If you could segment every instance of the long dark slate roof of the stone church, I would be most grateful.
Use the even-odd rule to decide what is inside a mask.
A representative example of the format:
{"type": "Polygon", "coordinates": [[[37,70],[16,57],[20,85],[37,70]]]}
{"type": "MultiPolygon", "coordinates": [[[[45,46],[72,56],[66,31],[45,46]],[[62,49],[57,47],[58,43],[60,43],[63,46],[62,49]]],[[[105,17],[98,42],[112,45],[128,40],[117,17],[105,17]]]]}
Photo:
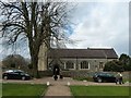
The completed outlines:
{"type": "Polygon", "coordinates": [[[51,49],[48,58],[87,58],[87,59],[118,59],[114,48],[110,49],[51,49]]]}

